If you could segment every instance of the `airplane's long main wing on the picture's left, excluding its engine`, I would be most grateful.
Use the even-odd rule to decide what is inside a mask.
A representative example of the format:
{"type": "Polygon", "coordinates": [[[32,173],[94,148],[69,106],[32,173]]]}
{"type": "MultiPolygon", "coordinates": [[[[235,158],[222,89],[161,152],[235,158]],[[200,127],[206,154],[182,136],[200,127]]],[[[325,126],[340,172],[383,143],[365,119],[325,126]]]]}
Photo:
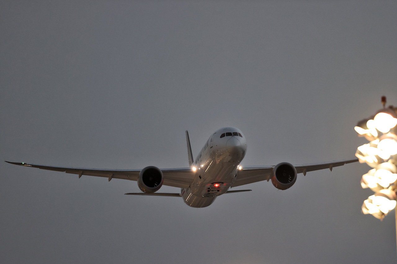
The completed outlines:
{"type": "MultiPolygon", "coordinates": [[[[9,162],[9,161],[6,162],[20,166],[40,168],[43,170],[55,170],[55,171],[61,171],[71,174],[77,174],[79,175],[79,178],[82,175],[105,177],[108,178],[109,181],[112,180],[113,178],[136,181],[138,180],[139,172],[141,171],[141,170],[106,170],[106,169],[94,169],[94,168],[69,168],[69,167],[35,165],[28,163],[17,163],[17,162],[9,162]]],[[[172,186],[172,187],[188,188],[190,184],[193,182],[195,176],[191,168],[171,168],[171,169],[161,169],[161,171],[164,176],[163,185],[172,186]]]]}

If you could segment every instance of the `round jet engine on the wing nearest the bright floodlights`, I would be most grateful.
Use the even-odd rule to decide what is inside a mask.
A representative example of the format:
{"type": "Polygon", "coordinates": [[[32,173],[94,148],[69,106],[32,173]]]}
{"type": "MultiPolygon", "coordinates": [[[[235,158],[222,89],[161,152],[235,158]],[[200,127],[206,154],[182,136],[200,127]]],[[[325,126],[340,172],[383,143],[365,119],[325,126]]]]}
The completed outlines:
{"type": "Polygon", "coordinates": [[[272,184],[280,190],[288,189],[297,180],[297,170],[287,162],[282,162],[273,168],[272,184]]]}

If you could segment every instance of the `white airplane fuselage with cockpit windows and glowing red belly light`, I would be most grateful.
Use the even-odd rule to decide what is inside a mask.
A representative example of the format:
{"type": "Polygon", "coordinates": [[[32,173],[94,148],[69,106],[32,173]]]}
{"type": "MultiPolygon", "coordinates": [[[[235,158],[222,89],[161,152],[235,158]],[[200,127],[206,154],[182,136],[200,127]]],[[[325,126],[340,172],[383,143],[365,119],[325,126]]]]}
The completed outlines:
{"type": "Polygon", "coordinates": [[[189,188],[181,188],[183,201],[191,207],[207,207],[224,194],[236,180],[247,151],[243,133],[234,127],[214,132],[193,161],[195,178],[189,188]]]}

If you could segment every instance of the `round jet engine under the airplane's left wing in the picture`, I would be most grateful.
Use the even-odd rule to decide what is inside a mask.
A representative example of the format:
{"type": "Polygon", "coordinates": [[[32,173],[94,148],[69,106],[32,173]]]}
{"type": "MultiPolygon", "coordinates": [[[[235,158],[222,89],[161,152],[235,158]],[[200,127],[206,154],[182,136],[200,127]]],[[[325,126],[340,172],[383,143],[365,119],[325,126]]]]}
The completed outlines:
{"type": "Polygon", "coordinates": [[[154,166],[148,166],[139,172],[138,187],[144,193],[154,193],[163,185],[163,173],[154,166]]]}

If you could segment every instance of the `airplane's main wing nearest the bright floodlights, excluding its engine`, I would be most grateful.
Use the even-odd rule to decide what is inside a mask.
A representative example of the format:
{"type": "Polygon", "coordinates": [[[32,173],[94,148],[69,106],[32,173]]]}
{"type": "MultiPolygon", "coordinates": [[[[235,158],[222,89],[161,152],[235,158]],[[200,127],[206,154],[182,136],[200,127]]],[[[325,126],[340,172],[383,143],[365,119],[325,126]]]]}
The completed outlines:
{"type": "MultiPolygon", "coordinates": [[[[313,170],[322,170],[329,168],[332,171],[333,167],[342,166],[347,163],[357,162],[358,159],[347,159],[343,161],[331,161],[324,163],[313,163],[304,165],[294,165],[297,173],[303,173],[306,176],[306,172],[313,170]]],[[[276,165],[275,165],[276,166],[276,165]]],[[[239,170],[237,179],[231,187],[237,187],[244,184],[250,184],[253,182],[260,182],[272,178],[273,168],[275,166],[251,166],[243,167],[243,170],[239,170]]]]}

